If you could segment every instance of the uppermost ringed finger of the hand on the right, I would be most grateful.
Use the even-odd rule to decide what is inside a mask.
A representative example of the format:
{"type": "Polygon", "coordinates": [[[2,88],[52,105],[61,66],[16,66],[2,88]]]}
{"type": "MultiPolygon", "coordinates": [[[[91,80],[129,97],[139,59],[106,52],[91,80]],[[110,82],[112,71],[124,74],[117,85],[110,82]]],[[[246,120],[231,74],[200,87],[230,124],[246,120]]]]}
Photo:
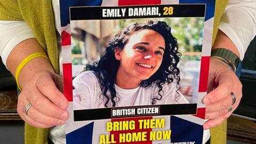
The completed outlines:
{"type": "Polygon", "coordinates": [[[232,105],[232,97],[231,94],[226,95],[226,97],[220,101],[211,103],[210,105],[206,105],[206,112],[217,112],[221,110],[228,109],[229,106],[232,105]]]}

